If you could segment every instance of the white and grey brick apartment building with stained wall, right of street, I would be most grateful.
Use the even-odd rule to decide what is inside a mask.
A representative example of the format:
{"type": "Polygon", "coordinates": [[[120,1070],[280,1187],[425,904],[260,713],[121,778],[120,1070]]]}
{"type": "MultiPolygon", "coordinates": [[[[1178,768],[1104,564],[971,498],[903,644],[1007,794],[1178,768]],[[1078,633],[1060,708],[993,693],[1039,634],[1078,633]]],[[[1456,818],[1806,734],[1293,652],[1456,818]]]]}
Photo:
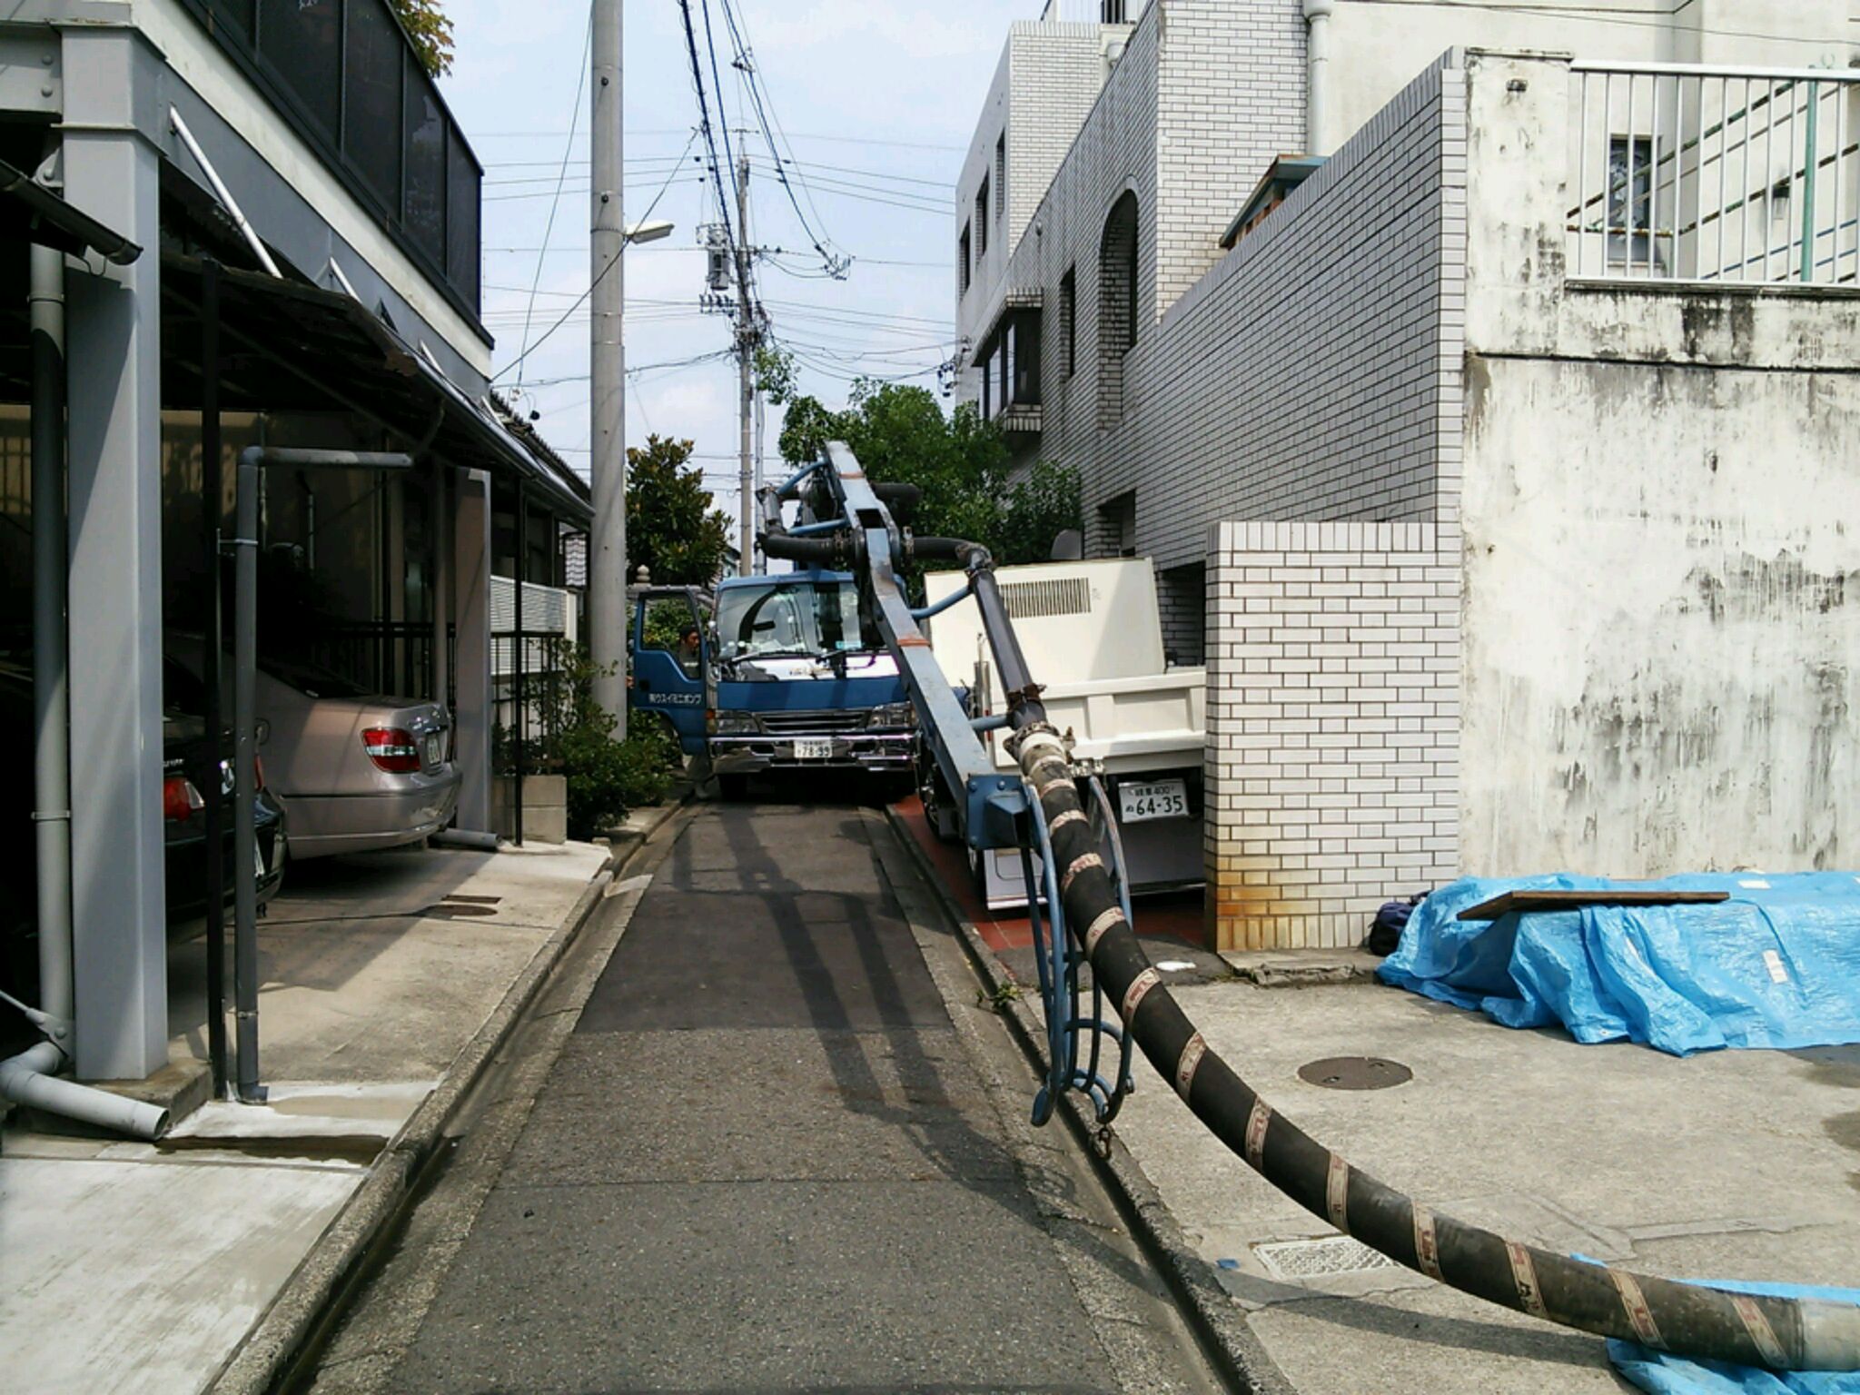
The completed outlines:
{"type": "Polygon", "coordinates": [[[1853,6],[1131,11],[1008,33],[962,394],[1209,666],[1218,943],[1851,857],[1853,6]]]}

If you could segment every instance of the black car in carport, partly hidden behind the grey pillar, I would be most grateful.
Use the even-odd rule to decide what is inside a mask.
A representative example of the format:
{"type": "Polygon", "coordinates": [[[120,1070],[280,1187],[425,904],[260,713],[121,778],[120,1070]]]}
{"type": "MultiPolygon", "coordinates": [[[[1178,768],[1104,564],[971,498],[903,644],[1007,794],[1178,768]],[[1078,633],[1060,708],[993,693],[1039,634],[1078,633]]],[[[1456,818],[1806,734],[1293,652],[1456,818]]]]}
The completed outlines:
{"type": "MultiPolygon", "coordinates": [[[[15,830],[22,841],[30,841],[32,830],[32,673],[13,664],[0,664],[0,729],[15,748],[15,770],[28,772],[26,779],[9,781],[0,790],[0,818],[6,828],[15,830]]],[[[210,753],[206,750],[206,724],[184,712],[162,714],[162,831],[167,843],[166,882],[167,882],[167,932],[171,937],[186,936],[206,913],[206,800],[201,790],[208,777],[210,753]]],[[[225,792],[221,818],[225,824],[225,904],[231,908],[234,893],[232,870],[232,764],[221,761],[216,772],[219,789],[225,792]]],[[[285,880],[285,811],[264,789],[264,763],[259,764],[259,867],[253,869],[259,880],[259,904],[266,904],[277,895],[285,880]]],[[[37,859],[30,852],[22,857],[0,859],[0,988],[37,1001],[37,859]]]]}

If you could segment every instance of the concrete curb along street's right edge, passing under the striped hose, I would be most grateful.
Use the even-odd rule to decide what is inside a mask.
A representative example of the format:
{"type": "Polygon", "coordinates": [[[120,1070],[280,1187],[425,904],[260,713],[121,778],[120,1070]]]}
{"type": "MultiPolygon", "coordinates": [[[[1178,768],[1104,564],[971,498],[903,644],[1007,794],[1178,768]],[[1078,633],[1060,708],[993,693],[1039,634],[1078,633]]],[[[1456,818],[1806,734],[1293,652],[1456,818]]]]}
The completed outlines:
{"type": "MultiPolygon", "coordinates": [[[[1014,1029],[1021,1051],[1027,1053],[1034,1070],[1045,1075],[1045,1027],[1025,999],[1003,999],[999,995],[1003,988],[1021,988],[1019,980],[995,958],[995,952],[949,893],[949,887],[943,885],[936,865],[917,844],[917,837],[889,805],[885,807],[885,820],[924,882],[930,884],[945,915],[949,915],[950,923],[962,934],[963,949],[969,952],[969,960],[975,963],[982,982],[1003,1003],[1003,1012],[1014,1029]]],[[[1176,1215],[1162,1202],[1162,1194],[1131,1155],[1131,1149],[1123,1146],[1123,1140],[1116,1133],[1110,1133],[1109,1149],[1103,1149],[1099,1146],[1097,1122],[1077,1094],[1066,1094],[1062,1112],[1071,1135],[1092,1159],[1094,1168],[1118,1202],[1138,1242],[1149,1252],[1170,1293],[1181,1304],[1185,1321],[1222,1376],[1252,1395],[1296,1395],[1291,1380],[1285,1378],[1278,1363],[1267,1354],[1265,1345],[1246,1324],[1246,1315],[1233,1304],[1228,1291],[1220,1287],[1207,1261],[1189,1244],[1181,1222],[1176,1220],[1176,1215]]]]}

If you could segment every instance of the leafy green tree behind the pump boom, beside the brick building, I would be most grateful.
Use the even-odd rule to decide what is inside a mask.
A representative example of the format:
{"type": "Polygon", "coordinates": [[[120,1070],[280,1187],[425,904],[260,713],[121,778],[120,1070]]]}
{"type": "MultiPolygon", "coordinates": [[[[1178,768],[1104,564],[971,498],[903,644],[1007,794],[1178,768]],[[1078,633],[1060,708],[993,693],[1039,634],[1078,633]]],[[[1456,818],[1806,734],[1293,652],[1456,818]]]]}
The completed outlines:
{"type": "Polygon", "coordinates": [[[913,532],[984,543],[1001,564],[1045,562],[1053,538],[1081,526],[1077,469],[1042,461],[1010,485],[1001,428],[971,404],[945,415],[928,389],[861,379],[844,411],[792,398],[781,426],[783,458],[805,465],[828,441],[852,446],[867,478],[923,489],[913,532]]]}

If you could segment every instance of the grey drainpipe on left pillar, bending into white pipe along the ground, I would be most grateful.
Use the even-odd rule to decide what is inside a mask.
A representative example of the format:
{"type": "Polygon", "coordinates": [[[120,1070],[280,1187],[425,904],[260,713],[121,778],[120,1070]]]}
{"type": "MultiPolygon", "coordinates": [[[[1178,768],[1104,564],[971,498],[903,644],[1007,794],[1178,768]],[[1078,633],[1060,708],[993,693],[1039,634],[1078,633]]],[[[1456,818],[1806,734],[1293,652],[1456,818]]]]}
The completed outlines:
{"type": "Polygon", "coordinates": [[[71,1062],[71,701],[65,653],[65,255],[32,247],[32,664],[33,835],[39,872],[39,1045],[0,1060],[0,1099],[138,1138],[167,1110],[58,1079],[71,1062]]]}

